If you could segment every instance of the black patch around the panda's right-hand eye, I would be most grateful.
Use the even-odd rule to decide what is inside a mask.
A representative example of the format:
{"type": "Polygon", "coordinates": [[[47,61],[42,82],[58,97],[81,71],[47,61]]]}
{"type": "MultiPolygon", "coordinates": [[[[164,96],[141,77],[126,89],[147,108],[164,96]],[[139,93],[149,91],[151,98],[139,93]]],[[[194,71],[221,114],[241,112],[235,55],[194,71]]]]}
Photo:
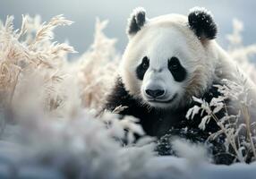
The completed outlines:
{"type": "Polygon", "coordinates": [[[168,60],[168,69],[175,81],[181,82],[186,78],[187,72],[177,57],[173,56],[168,60]]]}

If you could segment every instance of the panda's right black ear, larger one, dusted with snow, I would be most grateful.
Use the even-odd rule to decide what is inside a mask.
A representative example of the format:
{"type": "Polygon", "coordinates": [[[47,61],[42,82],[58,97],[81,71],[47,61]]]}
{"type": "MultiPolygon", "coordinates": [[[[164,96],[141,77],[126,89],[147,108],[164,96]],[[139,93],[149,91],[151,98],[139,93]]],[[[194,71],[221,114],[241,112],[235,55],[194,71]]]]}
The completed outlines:
{"type": "Polygon", "coordinates": [[[217,24],[211,13],[203,7],[194,7],[188,15],[190,28],[200,39],[214,39],[217,35],[217,24]]]}

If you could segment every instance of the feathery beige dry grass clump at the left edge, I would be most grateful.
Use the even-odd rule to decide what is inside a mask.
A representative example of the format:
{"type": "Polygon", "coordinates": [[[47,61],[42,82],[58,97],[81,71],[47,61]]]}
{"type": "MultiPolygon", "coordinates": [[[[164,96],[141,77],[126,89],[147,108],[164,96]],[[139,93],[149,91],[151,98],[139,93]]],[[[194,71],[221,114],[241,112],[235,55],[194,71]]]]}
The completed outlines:
{"type": "Polygon", "coordinates": [[[62,95],[57,90],[61,89],[60,85],[64,81],[63,73],[68,75],[68,72],[64,72],[63,67],[59,68],[65,65],[66,54],[75,51],[67,44],[57,44],[50,40],[55,27],[70,25],[72,21],[58,15],[48,23],[43,23],[40,28],[35,23],[38,21],[32,21],[30,16],[25,15],[22,16],[21,30],[13,30],[13,16],[8,16],[5,24],[0,27],[1,106],[16,106],[21,98],[25,99],[25,94],[41,91],[42,103],[51,111],[60,107],[56,104],[59,102],[54,101],[64,101],[66,98],[66,94],[62,95]],[[34,38],[33,32],[36,32],[34,38]],[[38,83],[42,86],[30,88],[35,86],[35,79],[41,81],[38,83]]]}

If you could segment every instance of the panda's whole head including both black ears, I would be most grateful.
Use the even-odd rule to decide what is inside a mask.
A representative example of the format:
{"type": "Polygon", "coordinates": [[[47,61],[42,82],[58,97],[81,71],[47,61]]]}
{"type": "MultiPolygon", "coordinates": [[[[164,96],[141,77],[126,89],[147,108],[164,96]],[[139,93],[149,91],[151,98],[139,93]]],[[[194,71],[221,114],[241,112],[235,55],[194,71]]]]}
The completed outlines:
{"type": "Polygon", "coordinates": [[[128,21],[129,43],[121,63],[124,87],[149,107],[174,108],[199,96],[213,79],[217,26],[203,8],[188,16],[146,18],[143,8],[128,21]]]}

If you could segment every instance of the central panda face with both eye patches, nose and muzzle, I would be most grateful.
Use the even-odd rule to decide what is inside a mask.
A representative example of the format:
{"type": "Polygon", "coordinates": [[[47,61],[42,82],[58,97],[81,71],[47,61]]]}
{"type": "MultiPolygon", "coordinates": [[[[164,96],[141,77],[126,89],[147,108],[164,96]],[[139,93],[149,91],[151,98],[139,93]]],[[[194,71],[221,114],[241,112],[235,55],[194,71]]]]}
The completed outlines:
{"type": "Polygon", "coordinates": [[[136,75],[142,81],[141,96],[151,107],[171,107],[183,96],[187,71],[176,56],[161,61],[144,56],[136,75]]]}

